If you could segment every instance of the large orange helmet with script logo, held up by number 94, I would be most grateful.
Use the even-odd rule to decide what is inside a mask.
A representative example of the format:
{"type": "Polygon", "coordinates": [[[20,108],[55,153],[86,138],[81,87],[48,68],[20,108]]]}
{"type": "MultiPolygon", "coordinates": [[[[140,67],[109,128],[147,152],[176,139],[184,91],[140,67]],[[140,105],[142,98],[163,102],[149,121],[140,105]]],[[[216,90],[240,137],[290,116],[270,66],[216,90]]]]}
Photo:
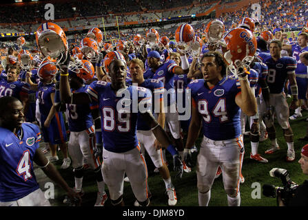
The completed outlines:
{"type": "Polygon", "coordinates": [[[229,70],[236,75],[240,68],[249,69],[257,49],[254,34],[245,28],[234,28],[227,32],[223,39],[227,45],[223,57],[229,65],[229,70]]]}

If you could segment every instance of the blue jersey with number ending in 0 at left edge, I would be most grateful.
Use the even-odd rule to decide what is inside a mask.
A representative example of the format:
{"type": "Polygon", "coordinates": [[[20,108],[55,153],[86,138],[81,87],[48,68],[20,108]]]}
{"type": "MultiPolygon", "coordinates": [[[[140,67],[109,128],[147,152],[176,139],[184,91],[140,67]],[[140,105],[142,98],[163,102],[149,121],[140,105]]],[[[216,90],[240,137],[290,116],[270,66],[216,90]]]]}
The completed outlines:
{"type": "Polygon", "coordinates": [[[8,83],[7,80],[0,81],[0,98],[3,96],[13,96],[21,100],[21,96],[28,96],[30,86],[28,83],[15,81],[8,83]]]}

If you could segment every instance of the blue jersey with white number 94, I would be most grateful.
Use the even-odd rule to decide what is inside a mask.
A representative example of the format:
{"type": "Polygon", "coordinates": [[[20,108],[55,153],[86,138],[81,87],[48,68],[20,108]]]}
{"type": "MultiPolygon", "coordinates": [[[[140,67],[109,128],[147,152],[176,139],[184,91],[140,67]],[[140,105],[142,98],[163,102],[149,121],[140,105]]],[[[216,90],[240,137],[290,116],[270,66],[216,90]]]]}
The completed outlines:
{"type": "Polygon", "coordinates": [[[192,104],[203,118],[205,137],[211,140],[229,140],[240,135],[240,107],[235,102],[240,93],[237,83],[238,80],[223,78],[211,89],[203,79],[189,83],[192,104]]]}

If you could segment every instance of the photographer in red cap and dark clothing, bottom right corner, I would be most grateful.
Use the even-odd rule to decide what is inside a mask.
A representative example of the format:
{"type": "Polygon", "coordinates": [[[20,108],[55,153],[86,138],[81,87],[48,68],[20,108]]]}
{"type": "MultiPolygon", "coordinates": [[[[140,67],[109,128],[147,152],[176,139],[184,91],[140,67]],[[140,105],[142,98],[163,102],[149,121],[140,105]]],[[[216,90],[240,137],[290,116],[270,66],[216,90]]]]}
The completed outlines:
{"type": "MultiPolygon", "coordinates": [[[[302,173],[308,175],[308,144],[302,147],[300,153],[301,157],[298,160],[302,173]]],[[[283,199],[278,193],[277,196],[279,206],[308,206],[308,180],[305,180],[302,185],[296,188],[294,196],[289,200],[289,203],[285,204],[283,199]]]]}

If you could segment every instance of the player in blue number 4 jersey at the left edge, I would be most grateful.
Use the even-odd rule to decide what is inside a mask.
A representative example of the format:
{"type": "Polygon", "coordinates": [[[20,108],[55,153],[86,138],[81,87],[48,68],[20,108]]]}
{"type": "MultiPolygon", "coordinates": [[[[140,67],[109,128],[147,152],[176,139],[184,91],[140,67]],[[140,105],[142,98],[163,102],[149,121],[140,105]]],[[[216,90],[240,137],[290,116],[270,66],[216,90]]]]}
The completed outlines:
{"type": "Polygon", "coordinates": [[[39,127],[24,122],[23,104],[17,98],[0,98],[0,120],[0,206],[50,206],[39,188],[33,162],[80,203],[81,197],[41,153],[39,127]]]}

